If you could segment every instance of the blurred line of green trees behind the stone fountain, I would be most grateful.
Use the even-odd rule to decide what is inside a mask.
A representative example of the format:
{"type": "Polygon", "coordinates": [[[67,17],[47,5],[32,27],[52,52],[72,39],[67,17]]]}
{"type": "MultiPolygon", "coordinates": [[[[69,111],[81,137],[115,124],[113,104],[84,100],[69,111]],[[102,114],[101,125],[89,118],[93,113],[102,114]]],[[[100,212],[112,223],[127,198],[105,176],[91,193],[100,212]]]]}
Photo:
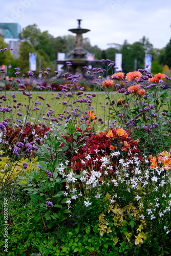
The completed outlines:
{"type": "MultiPolygon", "coordinates": [[[[19,49],[19,58],[14,60],[12,56],[1,54],[0,65],[6,64],[13,68],[19,67],[23,73],[29,69],[29,52],[37,53],[37,71],[39,72],[39,59],[41,59],[41,69],[46,70],[50,67],[56,70],[55,60],[57,53],[68,53],[75,47],[75,36],[65,35],[54,37],[48,31],[41,32],[36,24],[29,25],[20,33],[22,42],[19,49]],[[6,61],[5,61],[6,59],[6,61]],[[6,62],[6,63],[4,63],[6,62]]],[[[5,43],[1,39],[0,47],[5,48],[5,43]]],[[[123,45],[109,44],[109,48],[101,50],[97,45],[92,46],[88,37],[83,38],[83,48],[90,53],[95,54],[95,59],[110,59],[115,61],[115,54],[122,53],[122,69],[123,72],[131,72],[136,69],[144,68],[145,53],[152,54],[152,73],[156,74],[163,71],[167,73],[171,68],[171,39],[163,49],[153,48],[151,42],[145,36],[139,41],[129,44],[127,40],[123,45]],[[135,62],[136,60],[136,62],[135,62]],[[136,65],[135,65],[136,63],[136,65]]],[[[169,74],[168,74],[169,75],[169,74]]]]}

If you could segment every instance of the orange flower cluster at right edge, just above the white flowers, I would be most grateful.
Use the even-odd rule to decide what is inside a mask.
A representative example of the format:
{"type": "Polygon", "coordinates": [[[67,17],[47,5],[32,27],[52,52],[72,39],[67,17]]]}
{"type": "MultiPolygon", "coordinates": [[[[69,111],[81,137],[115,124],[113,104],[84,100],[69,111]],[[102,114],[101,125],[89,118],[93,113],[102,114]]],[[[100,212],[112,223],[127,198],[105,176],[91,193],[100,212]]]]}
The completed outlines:
{"type": "Polygon", "coordinates": [[[159,153],[158,157],[149,156],[149,159],[150,159],[150,161],[152,163],[150,165],[150,167],[152,169],[155,169],[156,167],[159,167],[157,164],[162,164],[162,167],[164,169],[171,169],[170,153],[167,152],[167,151],[163,151],[162,153],[159,153]]]}

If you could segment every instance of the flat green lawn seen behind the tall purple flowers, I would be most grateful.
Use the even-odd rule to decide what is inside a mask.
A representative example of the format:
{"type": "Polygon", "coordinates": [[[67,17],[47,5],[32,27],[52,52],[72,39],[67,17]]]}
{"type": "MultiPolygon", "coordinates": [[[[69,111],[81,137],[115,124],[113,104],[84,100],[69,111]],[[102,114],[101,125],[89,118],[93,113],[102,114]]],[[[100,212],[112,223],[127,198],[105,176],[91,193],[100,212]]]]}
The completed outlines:
{"type": "MultiPolygon", "coordinates": [[[[27,96],[23,95],[23,93],[20,93],[20,92],[14,92],[14,93],[16,95],[17,102],[22,102],[22,105],[20,106],[21,111],[18,111],[18,109],[13,109],[12,117],[14,118],[16,116],[17,112],[22,112],[23,116],[25,116],[27,113],[26,106],[28,104],[30,104],[29,116],[32,118],[36,118],[38,120],[41,120],[41,118],[43,116],[42,114],[40,115],[40,113],[43,113],[43,112],[47,113],[49,111],[49,109],[52,109],[54,111],[53,114],[55,114],[56,118],[58,117],[58,113],[63,112],[63,110],[65,110],[65,109],[68,109],[69,111],[71,111],[73,109],[72,101],[75,100],[76,98],[78,98],[78,96],[74,95],[73,98],[61,97],[60,99],[58,99],[58,98],[56,98],[56,96],[58,96],[57,92],[53,92],[53,93],[51,93],[51,92],[49,92],[49,93],[48,92],[31,92],[32,98],[30,99],[30,102],[29,102],[29,98],[27,96]],[[44,97],[45,100],[39,99],[37,97],[38,95],[44,97]],[[41,105],[39,105],[39,104],[37,105],[40,110],[32,111],[32,109],[35,107],[34,103],[36,100],[41,102],[41,105]],[[62,104],[62,101],[67,101],[71,105],[66,107],[66,105],[62,104]],[[50,105],[50,107],[47,106],[47,103],[50,105]]],[[[87,93],[85,92],[85,94],[87,94],[87,93]]],[[[11,93],[6,92],[6,95],[8,98],[8,100],[6,101],[6,104],[9,104],[11,106],[16,105],[17,102],[15,103],[12,101],[11,93]]],[[[110,93],[110,97],[111,97],[111,99],[117,100],[118,94],[116,94],[115,92],[110,93]]],[[[81,95],[81,98],[86,98],[86,95],[81,95]]],[[[92,97],[92,99],[93,99],[92,106],[94,106],[93,111],[95,112],[96,116],[98,118],[101,117],[103,120],[108,120],[109,104],[106,105],[106,109],[104,109],[101,105],[105,105],[105,102],[109,101],[109,100],[106,99],[104,94],[101,92],[96,93],[96,97],[92,97]]],[[[85,103],[76,103],[76,104],[74,104],[74,108],[76,108],[76,106],[80,110],[83,110],[83,111],[91,110],[91,109],[88,109],[88,106],[85,103]]],[[[12,115],[12,114],[8,113],[8,115],[12,115]]],[[[47,115],[45,115],[45,116],[47,117],[47,115]]]]}

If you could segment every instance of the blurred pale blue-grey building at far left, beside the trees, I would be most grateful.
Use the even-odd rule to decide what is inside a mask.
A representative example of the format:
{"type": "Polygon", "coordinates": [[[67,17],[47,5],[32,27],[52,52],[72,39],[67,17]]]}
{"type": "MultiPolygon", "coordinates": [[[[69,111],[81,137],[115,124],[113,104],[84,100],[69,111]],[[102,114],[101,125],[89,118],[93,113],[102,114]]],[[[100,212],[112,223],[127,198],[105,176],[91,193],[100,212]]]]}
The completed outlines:
{"type": "Polygon", "coordinates": [[[20,38],[19,34],[22,31],[22,27],[18,23],[0,23],[2,27],[2,33],[4,34],[4,41],[8,45],[8,48],[12,48],[11,54],[16,59],[19,56],[20,38]]]}

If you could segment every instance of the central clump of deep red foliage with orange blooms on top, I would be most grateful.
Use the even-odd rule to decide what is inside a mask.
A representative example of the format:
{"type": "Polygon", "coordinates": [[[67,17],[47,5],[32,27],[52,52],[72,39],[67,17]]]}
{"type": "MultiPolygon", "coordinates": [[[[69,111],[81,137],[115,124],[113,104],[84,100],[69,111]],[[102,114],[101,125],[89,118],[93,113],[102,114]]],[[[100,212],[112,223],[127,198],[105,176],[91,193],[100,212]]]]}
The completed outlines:
{"type": "MultiPolygon", "coordinates": [[[[79,147],[77,153],[72,156],[72,168],[77,170],[78,173],[81,169],[86,167],[103,172],[100,168],[102,157],[108,157],[110,158],[114,170],[115,166],[119,164],[119,158],[111,157],[111,153],[118,151],[120,152],[120,157],[124,155],[125,158],[130,159],[136,154],[139,160],[143,160],[137,146],[138,141],[134,140],[131,135],[132,132],[130,130],[123,130],[121,128],[111,129],[110,131],[101,132],[97,135],[89,133],[89,136],[85,137],[83,140],[84,144],[79,147]]],[[[72,136],[66,139],[72,142],[72,136]]],[[[112,173],[113,170],[110,173],[112,173]]]]}

